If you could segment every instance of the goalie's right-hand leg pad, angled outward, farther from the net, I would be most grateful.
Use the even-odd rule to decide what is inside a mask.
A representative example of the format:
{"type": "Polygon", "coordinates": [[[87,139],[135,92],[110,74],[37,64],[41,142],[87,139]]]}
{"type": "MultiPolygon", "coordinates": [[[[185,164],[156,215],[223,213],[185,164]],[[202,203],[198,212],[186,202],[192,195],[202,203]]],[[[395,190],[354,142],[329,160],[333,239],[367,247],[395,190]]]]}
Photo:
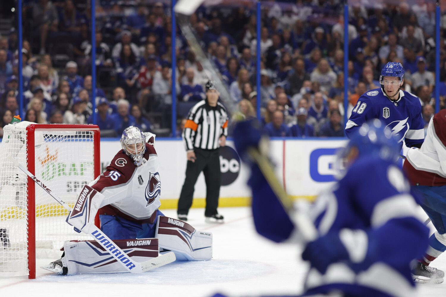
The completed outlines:
{"type": "Polygon", "coordinates": [[[186,222],[158,216],[157,231],[160,248],[175,253],[177,260],[211,260],[212,233],[198,231],[186,222]]]}

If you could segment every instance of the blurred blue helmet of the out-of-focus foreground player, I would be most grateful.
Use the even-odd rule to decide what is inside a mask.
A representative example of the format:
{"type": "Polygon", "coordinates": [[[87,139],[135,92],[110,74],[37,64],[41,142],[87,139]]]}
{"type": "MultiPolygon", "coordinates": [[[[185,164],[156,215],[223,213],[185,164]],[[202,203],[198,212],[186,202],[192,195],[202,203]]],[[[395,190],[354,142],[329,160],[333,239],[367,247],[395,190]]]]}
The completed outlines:
{"type": "Polygon", "coordinates": [[[377,118],[364,123],[351,135],[346,151],[349,152],[352,147],[358,149],[358,158],[370,156],[389,161],[395,161],[401,150],[392,130],[377,118]]]}

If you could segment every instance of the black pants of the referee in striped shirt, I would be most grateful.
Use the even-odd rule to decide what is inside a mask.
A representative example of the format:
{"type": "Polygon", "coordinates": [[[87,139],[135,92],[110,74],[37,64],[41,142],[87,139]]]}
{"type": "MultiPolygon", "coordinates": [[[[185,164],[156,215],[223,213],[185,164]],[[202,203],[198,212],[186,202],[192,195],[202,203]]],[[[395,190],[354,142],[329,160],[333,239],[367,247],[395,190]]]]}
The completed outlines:
{"type": "Polygon", "coordinates": [[[202,150],[195,148],[195,162],[187,161],[186,179],[178,199],[178,214],[187,215],[192,206],[194,187],[198,175],[203,171],[206,181],[206,209],[205,216],[216,215],[220,195],[220,157],[219,149],[202,150]]]}

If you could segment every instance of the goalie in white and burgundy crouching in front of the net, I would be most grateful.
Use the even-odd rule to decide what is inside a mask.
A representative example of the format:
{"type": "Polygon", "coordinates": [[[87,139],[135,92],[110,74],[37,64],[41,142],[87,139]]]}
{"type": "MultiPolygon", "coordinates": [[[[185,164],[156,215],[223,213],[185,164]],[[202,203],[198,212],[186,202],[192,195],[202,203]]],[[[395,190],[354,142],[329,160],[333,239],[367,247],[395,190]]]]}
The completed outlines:
{"type": "MultiPolygon", "coordinates": [[[[99,213],[101,231],[136,262],[174,252],[177,260],[210,260],[212,233],[165,217],[155,135],[130,126],[107,170],[80,191],[66,222],[88,230],[99,213]],[[147,141],[146,141],[147,139],[147,141]]],[[[43,266],[62,275],[122,273],[124,266],[96,241],[66,241],[62,258],[43,266]]]]}

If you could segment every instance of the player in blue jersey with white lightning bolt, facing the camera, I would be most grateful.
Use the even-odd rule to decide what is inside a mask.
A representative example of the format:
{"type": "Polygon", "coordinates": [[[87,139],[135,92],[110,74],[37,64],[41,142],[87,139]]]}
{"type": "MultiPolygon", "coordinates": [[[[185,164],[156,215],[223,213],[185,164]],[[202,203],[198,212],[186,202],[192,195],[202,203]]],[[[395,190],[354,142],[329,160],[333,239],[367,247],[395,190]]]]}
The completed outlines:
{"type": "Polygon", "coordinates": [[[400,146],[404,140],[408,147],[421,147],[424,125],[420,100],[412,93],[401,90],[403,82],[403,66],[388,62],[381,70],[381,88],[359,97],[345,127],[347,137],[350,138],[363,123],[379,118],[396,135],[400,146]]]}

